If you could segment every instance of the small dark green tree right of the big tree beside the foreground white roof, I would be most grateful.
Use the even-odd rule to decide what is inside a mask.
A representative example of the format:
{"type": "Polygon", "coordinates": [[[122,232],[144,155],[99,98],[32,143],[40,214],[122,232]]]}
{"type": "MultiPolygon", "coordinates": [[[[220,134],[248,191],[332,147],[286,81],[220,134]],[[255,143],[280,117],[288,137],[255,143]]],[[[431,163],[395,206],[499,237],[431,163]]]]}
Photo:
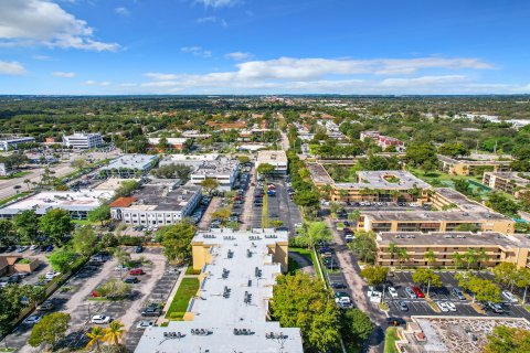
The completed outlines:
{"type": "MultiPolygon", "coordinates": [[[[344,345],[358,352],[373,331],[370,318],[359,309],[346,310],[340,314],[340,332],[344,345]]],[[[349,352],[349,350],[347,350],[349,352]]]]}

